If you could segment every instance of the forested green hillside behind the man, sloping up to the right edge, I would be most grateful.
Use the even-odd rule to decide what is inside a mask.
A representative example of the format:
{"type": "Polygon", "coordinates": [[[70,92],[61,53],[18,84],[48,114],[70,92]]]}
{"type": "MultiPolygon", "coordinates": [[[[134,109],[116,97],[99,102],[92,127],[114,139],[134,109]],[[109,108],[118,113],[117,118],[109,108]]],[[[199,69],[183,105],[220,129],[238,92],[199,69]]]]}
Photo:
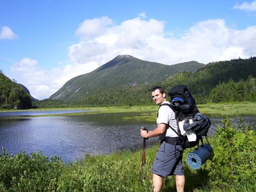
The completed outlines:
{"type": "MultiPolygon", "coordinates": [[[[255,89],[253,89],[256,77],[255,66],[256,57],[212,62],[195,73],[178,73],[161,83],[122,85],[115,87],[114,90],[95,89],[90,95],[85,94],[80,99],[69,101],[69,103],[64,100],[56,101],[55,106],[58,104],[62,107],[66,105],[70,107],[152,105],[151,89],[154,86],[163,86],[168,92],[177,84],[186,85],[196,98],[197,103],[231,102],[231,95],[233,95],[234,101],[255,101],[255,89]],[[220,96],[220,92],[222,92],[222,96],[220,96]],[[232,92],[234,93],[232,94],[232,92]]],[[[52,104],[47,104],[47,101],[44,101],[43,103],[37,102],[36,105],[51,107],[52,104]]]]}

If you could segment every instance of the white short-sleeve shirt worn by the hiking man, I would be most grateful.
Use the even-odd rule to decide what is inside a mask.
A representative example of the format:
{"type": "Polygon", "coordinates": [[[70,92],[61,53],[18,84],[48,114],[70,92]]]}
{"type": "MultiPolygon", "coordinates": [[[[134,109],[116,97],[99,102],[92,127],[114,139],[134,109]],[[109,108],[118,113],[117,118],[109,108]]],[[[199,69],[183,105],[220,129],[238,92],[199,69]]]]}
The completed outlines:
{"type": "MultiPolygon", "coordinates": [[[[170,102],[163,102],[170,104],[170,102]]],[[[175,131],[177,131],[177,121],[175,119],[175,112],[168,106],[164,105],[159,108],[158,118],[156,119],[157,125],[159,123],[164,123],[170,125],[175,131]]],[[[159,135],[159,139],[162,140],[164,137],[178,137],[178,135],[169,127],[166,127],[166,130],[163,134],[159,135]]]]}

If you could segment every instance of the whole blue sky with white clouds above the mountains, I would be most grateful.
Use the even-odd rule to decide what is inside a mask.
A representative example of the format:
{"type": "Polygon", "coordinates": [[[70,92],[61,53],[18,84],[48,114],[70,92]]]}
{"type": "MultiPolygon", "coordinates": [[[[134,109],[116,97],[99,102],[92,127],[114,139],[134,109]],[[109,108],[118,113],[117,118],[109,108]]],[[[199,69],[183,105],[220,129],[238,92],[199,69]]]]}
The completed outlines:
{"type": "Polygon", "coordinates": [[[0,0],[0,69],[43,100],[118,55],[256,56],[256,0],[0,0]]]}

